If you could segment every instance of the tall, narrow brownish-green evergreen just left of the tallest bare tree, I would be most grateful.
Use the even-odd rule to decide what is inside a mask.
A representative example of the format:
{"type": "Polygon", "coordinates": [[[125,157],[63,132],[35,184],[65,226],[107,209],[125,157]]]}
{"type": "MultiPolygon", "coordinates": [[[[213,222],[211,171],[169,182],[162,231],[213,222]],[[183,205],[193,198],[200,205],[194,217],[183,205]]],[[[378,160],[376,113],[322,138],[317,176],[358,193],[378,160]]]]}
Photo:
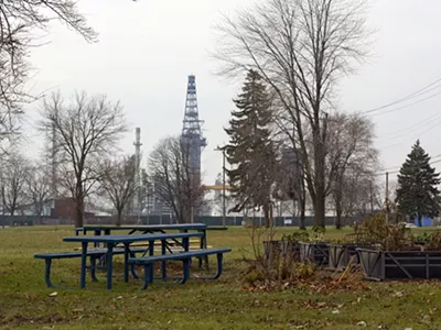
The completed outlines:
{"type": "Polygon", "coordinates": [[[270,139],[271,100],[260,75],[250,70],[232,111],[226,158],[233,169],[226,170],[230,194],[237,201],[232,211],[262,208],[266,226],[272,218],[271,188],[275,182],[276,152],[270,139]]]}

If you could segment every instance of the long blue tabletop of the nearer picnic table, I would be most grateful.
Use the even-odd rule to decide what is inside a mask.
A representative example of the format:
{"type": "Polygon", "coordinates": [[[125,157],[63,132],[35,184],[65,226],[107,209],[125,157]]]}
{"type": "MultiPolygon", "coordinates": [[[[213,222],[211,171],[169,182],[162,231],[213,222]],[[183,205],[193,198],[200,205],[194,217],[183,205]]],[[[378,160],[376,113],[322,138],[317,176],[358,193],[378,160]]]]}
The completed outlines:
{"type": "Polygon", "coordinates": [[[89,242],[89,243],[132,243],[139,241],[158,241],[166,239],[202,238],[202,232],[179,232],[179,233],[154,233],[154,234],[127,234],[127,235],[82,235],[63,238],[64,242],[89,242]]]}

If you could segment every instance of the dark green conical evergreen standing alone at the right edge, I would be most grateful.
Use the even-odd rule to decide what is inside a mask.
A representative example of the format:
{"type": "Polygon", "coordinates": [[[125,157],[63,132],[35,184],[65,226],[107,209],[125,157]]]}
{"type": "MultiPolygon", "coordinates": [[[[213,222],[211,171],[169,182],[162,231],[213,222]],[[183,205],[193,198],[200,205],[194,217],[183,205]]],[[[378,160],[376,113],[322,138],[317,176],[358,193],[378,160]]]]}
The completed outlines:
{"type": "Polygon", "coordinates": [[[418,219],[419,227],[422,217],[439,215],[439,176],[430,166],[430,156],[417,141],[398,175],[396,202],[400,213],[418,219]]]}

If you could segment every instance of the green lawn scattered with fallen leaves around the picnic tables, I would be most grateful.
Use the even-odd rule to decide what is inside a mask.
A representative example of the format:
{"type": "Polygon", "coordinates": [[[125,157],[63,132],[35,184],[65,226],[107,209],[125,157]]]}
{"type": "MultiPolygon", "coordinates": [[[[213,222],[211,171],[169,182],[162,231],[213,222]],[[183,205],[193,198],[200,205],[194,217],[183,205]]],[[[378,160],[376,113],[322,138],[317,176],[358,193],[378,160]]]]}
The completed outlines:
{"type": "MultiPolygon", "coordinates": [[[[291,229],[292,231],[292,229],[291,229]]],[[[279,234],[289,232],[280,229],[279,234]]],[[[348,232],[345,230],[343,232],[348,232]]],[[[342,231],[329,230],[329,238],[342,231]]],[[[247,290],[240,272],[251,245],[244,229],[208,231],[208,244],[230,246],[219,280],[190,280],[183,286],[122,282],[115,289],[100,283],[80,289],[45,287],[44,262],[36,252],[72,251],[62,242],[67,227],[0,229],[0,328],[2,329],[441,329],[441,282],[370,283],[368,289],[323,292],[247,290]],[[57,295],[51,297],[50,294],[57,295]],[[366,327],[358,324],[364,321],[366,327]]],[[[79,260],[55,261],[53,282],[77,285],[79,260]]],[[[87,277],[89,280],[89,277],[87,277]]]]}

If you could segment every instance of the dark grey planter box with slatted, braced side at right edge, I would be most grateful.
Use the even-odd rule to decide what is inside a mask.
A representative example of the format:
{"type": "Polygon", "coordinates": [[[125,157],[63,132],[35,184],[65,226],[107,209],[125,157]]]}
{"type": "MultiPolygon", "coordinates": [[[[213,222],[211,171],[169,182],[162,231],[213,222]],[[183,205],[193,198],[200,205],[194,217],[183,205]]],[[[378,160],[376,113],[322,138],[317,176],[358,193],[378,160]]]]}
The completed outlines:
{"type": "Polygon", "coordinates": [[[441,251],[375,251],[357,249],[367,278],[441,278],[441,251]]]}

